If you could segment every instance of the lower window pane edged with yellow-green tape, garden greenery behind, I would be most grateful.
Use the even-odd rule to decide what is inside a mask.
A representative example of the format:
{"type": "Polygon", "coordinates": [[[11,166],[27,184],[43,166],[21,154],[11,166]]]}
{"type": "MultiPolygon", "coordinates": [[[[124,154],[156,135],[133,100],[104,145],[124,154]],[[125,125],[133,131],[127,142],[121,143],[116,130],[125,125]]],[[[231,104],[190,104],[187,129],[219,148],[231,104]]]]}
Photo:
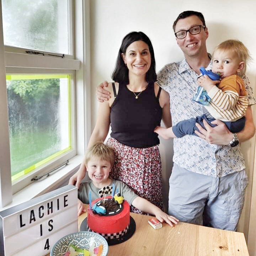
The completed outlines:
{"type": "Polygon", "coordinates": [[[7,75],[11,177],[71,149],[70,76],[7,75]]]}

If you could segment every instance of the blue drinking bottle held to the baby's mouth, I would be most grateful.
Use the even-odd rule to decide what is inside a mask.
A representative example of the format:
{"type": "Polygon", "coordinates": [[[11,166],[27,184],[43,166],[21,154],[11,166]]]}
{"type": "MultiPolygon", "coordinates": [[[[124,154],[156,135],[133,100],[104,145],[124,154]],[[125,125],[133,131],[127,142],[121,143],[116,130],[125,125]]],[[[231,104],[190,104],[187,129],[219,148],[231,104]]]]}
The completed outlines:
{"type": "MultiPolygon", "coordinates": [[[[220,79],[218,74],[213,73],[210,70],[206,70],[204,67],[199,69],[203,75],[208,75],[210,79],[213,81],[217,81],[220,79]]],[[[196,93],[194,94],[193,101],[196,101],[202,105],[208,105],[210,102],[210,97],[207,94],[207,91],[202,87],[198,86],[196,93]]]]}

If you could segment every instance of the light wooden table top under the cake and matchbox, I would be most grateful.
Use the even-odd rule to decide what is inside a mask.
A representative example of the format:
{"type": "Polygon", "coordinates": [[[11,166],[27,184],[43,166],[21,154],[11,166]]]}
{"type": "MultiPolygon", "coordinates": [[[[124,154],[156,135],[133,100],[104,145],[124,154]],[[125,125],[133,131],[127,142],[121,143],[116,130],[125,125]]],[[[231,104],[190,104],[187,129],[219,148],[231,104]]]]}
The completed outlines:
{"type": "MultiPolygon", "coordinates": [[[[78,227],[87,213],[78,218],[78,227]]],[[[108,247],[108,256],[249,256],[243,233],[180,222],[153,229],[147,215],[131,213],[136,230],[125,242],[108,247]]]]}

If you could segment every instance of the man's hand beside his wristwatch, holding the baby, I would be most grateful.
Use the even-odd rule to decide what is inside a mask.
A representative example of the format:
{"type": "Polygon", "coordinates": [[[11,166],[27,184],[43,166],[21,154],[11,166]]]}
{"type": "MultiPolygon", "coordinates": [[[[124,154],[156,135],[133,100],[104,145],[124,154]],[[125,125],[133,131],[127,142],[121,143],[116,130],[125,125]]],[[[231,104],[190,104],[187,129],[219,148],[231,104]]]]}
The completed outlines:
{"type": "Polygon", "coordinates": [[[203,120],[204,129],[200,124],[196,123],[199,132],[195,130],[195,133],[200,138],[207,140],[210,144],[228,145],[233,139],[233,133],[231,133],[226,125],[218,119],[211,123],[216,124],[217,126],[211,127],[205,120],[203,120]]]}

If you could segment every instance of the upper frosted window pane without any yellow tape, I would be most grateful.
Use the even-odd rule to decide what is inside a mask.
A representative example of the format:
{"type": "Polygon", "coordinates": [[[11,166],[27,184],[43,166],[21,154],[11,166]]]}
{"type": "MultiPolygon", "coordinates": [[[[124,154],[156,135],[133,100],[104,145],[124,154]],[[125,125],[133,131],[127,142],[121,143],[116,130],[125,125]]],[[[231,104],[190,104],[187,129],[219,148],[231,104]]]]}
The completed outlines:
{"type": "Polygon", "coordinates": [[[5,46],[70,54],[69,1],[2,0],[5,46]]]}

